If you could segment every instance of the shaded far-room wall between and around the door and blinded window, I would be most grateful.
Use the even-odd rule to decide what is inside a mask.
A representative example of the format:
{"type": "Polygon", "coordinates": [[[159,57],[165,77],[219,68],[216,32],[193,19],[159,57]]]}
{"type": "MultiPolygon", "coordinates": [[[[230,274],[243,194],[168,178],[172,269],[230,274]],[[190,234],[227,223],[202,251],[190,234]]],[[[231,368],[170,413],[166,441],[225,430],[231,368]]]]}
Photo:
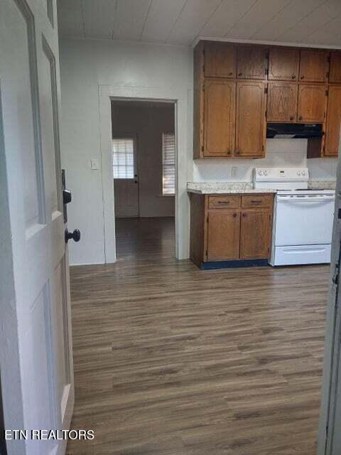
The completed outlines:
{"type": "Polygon", "coordinates": [[[175,215],[175,198],[162,196],[162,134],[174,132],[174,115],[170,103],[112,102],[113,137],[137,136],[140,217],[175,215]]]}

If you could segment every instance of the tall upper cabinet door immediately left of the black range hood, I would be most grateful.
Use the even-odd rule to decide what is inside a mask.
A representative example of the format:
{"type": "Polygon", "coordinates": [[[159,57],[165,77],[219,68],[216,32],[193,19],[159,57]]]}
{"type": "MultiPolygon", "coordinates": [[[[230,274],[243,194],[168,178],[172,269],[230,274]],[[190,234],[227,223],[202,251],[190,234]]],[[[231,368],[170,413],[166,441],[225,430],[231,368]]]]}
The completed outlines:
{"type": "Polygon", "coordinates": [[[266,134],[263,82],[237,82],[236,156],[262,157],[266,134]]]}

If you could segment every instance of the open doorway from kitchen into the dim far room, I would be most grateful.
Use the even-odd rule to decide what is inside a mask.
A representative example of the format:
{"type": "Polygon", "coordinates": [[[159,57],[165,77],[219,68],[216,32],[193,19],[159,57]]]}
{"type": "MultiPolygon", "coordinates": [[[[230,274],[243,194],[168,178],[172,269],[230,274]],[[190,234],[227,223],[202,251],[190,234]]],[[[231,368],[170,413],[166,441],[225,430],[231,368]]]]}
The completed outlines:
{"type": "Polygon", "coordinates": [[[112,100],[117,259],[175,257],[175,103],[112,100]]]}

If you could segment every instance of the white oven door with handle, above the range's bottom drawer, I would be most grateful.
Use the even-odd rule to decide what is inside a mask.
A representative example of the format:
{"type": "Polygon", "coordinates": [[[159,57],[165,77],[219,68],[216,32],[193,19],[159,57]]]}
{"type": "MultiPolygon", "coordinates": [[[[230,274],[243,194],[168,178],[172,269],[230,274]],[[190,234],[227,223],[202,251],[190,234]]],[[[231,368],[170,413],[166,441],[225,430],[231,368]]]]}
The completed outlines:
{"type": "Polygon", "coordinates": [[[274,245],[330,244],[334,201],[328,195],[277,195],[274,245]]]}

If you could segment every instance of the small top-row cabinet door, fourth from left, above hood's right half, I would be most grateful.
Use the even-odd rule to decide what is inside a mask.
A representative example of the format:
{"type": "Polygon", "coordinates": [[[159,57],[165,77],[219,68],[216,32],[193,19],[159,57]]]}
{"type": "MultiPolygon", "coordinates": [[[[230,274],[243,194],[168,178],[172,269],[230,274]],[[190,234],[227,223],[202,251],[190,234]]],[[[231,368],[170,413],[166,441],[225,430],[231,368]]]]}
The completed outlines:
{"type": "Polygon", "coordinates": [[[328,78],[329,53],[326,50],[303,49],[300,60],[302,82],[325,82],[328,78]]]}

